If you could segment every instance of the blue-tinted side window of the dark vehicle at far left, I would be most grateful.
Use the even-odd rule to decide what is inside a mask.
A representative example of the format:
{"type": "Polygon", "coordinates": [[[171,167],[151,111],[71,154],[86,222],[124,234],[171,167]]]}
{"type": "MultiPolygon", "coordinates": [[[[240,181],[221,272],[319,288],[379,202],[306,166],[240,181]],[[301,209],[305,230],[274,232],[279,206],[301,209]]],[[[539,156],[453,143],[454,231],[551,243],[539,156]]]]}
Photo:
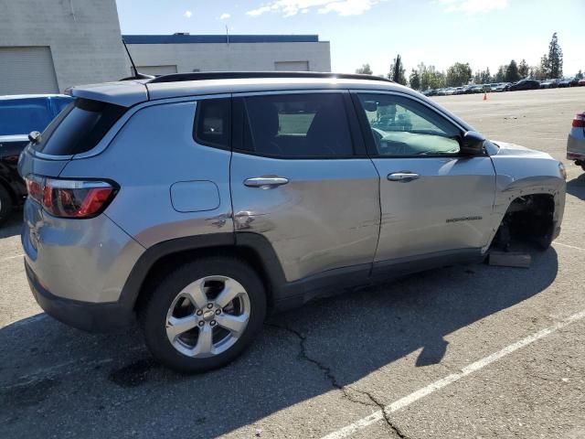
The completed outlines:
{"type": "Polygon", "coordinates": [[[46,98],[0,100],[0,135],[43,131],[52,118],[46,98]]]}

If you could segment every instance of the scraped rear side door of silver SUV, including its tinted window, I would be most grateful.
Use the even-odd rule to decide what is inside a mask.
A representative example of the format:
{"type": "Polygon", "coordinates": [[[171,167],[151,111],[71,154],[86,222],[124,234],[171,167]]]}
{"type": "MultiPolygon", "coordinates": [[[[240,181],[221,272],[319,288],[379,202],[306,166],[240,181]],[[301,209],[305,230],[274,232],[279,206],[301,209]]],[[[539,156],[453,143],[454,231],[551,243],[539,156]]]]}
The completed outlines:
{"type": "Polygon", "coordinates": [[[270,241],[289,282],[351,266],[365,279],[379,183],[348,92],[234,96],[234,131],[237,240],[252,232],[270,241]]]}

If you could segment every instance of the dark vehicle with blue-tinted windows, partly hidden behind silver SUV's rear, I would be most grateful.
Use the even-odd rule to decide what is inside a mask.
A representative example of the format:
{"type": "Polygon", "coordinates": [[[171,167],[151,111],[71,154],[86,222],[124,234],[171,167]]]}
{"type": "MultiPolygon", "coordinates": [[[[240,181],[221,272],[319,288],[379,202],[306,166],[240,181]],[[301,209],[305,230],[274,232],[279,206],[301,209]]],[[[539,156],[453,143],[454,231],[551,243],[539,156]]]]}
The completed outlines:
{"type": "Polygon", "coordinates": [[[44,131],[71,101],[60,94],[0,96],[0,224],[27,197],[16,164],[28,134],[44,131]]]}

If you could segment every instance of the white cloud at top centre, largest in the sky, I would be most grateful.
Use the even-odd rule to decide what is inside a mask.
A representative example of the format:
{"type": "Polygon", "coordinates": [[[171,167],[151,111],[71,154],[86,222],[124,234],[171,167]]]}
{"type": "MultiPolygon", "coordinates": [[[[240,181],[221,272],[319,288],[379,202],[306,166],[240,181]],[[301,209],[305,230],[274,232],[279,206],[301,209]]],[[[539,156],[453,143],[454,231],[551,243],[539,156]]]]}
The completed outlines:
{"type": "Polygon", "coordinates": [[[379,0],[272,0],[256,9],[248,11],[249,16],[261,16],[268,12],[282,16],[306,14],[317,8],[319,14],[334,12],[339,16],[358,16],[376,5],[379,0]]]}

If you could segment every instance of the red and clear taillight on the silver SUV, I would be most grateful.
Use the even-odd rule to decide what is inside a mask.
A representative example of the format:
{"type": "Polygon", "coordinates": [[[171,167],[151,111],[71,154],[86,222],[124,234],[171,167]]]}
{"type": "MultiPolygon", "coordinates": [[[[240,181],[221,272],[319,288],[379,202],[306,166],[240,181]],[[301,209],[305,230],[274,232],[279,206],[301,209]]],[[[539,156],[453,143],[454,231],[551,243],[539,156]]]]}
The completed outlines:
{"type": "Polygon", "coordinates": [[[93,218],[112,202],[118,190],[106,181],[60,180],[28,176],[28,196],[60,218],[93,218]]]}

